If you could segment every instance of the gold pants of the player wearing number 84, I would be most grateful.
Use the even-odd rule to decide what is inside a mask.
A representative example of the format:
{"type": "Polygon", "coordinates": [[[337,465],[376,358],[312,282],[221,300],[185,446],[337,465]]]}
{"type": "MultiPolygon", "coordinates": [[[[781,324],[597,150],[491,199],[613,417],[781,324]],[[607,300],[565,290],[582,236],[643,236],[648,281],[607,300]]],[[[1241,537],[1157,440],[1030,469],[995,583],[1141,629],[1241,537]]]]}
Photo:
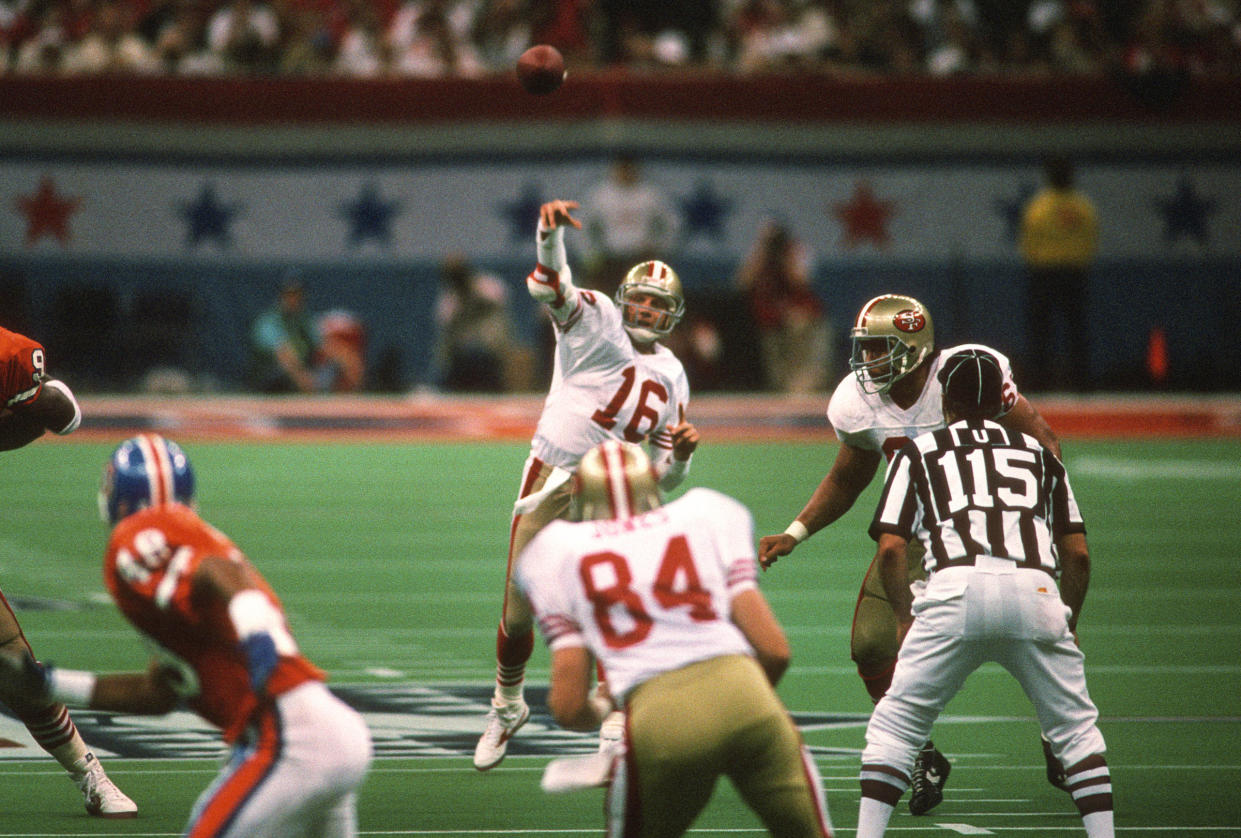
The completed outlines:
{"type": "Polygon", "coordinates": [[[777,838],[830,836],[802,736],[747,656],[656,675],[630,693],[628,754],[608,790],[608,836],[681,836],[726,776],[777,838]]]}

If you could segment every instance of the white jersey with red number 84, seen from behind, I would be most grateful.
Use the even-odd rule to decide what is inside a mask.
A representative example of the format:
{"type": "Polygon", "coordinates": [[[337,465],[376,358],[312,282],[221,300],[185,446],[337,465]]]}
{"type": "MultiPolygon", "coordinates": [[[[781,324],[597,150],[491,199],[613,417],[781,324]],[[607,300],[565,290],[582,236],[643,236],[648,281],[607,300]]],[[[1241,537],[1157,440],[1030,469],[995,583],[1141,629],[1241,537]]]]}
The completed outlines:
{"type": "Polygon", "coordinates": [[[752,656],[730,615],[757,572],[750,510],[702,488],[624,520],[552,521],[517,559],[547,646],[588,648],[618,704],[660,673],[752,656]]]}

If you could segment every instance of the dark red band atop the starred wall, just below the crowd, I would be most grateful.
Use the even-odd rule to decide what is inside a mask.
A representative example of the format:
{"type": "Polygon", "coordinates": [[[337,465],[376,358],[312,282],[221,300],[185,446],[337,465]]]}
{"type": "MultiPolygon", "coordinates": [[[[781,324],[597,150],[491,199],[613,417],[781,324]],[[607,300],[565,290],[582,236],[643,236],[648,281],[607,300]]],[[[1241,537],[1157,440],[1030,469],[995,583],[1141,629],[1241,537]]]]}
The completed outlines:
{"type": "MultiPolygon", "coordinates": [[[[516,81],[491,78],[0,77],[0,117],[187,124],[433,124],[530,118],[516,81]]],[[[838,123],[1236,120],[1241,84],[1195,78],[1165,108],[1117,79],[1044,77],[840,78],[829,74],[575,72],[539,103],[541,119],[731,119],[838,123]]]]}

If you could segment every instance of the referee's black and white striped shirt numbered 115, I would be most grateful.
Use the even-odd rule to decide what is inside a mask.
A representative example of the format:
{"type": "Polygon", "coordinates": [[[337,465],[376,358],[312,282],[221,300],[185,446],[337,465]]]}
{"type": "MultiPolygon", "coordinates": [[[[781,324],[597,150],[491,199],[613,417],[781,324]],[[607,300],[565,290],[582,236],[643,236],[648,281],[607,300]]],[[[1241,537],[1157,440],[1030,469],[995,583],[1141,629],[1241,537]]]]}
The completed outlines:
{"type": "Polygon", "coordinates": [[[1085,531],[1060,459],[995,422],[956,422],[901,448],[870,525],[872,539],[922,541],[927,572],[998,556],[1056,577],[1056,540],[1085,531]]]}

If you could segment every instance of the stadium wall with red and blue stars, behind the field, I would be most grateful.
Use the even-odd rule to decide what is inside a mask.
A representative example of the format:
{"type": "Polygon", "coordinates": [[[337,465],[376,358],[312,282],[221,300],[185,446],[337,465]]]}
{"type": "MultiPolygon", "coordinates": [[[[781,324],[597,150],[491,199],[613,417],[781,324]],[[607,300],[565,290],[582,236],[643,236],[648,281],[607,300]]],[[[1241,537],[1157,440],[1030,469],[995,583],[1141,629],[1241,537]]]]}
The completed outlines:
{"type": "Polygon", "coordinates": [[[311,308],[366,320],[382,386],[407,389],[439,258],[465,252],[509,282],[537,340],[521,284],[534,209],[583,197],[628,151],[681,212],[692,312],[732,317],[736,264],[779,217],[815,251],[838,335],[901,289],[942,341],[992,343],[1020,371],[1016,212],[1056,150],[1101,209],[1096,382],[1150,386],[1162,329],[1165,386],[1241,390],[1239,123],[1235,79],[601,73],[536,99],[506,78],[10,77],[0,314],[87,390],[155,366],[235,389],[249,320],[297,268],[311,308]]]}

